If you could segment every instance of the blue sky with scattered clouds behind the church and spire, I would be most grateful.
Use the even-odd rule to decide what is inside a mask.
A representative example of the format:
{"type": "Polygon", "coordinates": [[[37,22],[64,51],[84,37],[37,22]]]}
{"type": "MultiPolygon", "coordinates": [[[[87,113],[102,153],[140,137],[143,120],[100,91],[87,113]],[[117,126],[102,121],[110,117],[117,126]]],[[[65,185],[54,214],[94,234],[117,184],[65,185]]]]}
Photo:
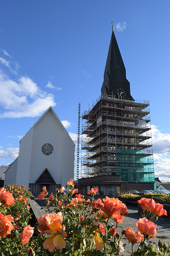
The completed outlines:
{"type": "Polygon", "coordinates": [[[100,94],[111,21],[135,99],[149,100],[155,176],[170,182],[170,1],[1,0],[0,165],[54,108],[74,142],[100,94]]]}

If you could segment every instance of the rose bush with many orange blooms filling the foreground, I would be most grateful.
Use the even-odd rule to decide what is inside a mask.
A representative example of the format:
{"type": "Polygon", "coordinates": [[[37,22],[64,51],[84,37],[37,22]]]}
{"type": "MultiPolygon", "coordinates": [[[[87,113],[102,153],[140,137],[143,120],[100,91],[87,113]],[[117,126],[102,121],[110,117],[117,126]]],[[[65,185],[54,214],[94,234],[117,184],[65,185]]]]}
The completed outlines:
{"type": "MultiPolygon", "coordinates": [[[[136,222],[137,231],[128,227],[118,233],[119,224],[121,226],[128,214],[120,199],[106,196],[95,200],[98,189],[92,188],[91,198],[85,200],[84,195],[78,194],[73,179],[67,185],[66,189],[56,188],[56,193],[49,195],[46,214],[38,218],[34,227],[28,222],[30,193],[23,186],[14,185],[0,190],[0,255],[118,256],[124,253],[122,239],[131,243],[134,256],[170,253],[170,242],[155,245],[151,241],[157,231],[154,219],[166,215],[160,203],[141,198],[139,203],[144,217],[136,222]],[[138,244],[135,252],[134,244],[138,244]]],[[[46,196],[44,186],[38,198],[46,196]]]]}

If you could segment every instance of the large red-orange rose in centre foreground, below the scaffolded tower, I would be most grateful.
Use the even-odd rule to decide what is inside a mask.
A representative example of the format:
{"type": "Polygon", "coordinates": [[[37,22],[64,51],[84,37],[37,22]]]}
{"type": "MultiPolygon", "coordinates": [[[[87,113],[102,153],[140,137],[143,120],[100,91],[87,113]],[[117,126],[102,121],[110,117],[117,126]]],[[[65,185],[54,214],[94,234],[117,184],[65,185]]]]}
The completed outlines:
{"type": "Polygon", "coordinates": [[[120,209],[122,208],[120,200],[119,202],[113,197],[113,198],[109,198],[108,196],[106,196],[106,198],[103,199],[103,202],[101,201],[101,199],[97,199],[96,201],[96,206],[100,207],[100,209],[102,211],[104,211],[107,215],[113,216],[113,218],[116,218],[117,215],[120,215],[120,209]]]}

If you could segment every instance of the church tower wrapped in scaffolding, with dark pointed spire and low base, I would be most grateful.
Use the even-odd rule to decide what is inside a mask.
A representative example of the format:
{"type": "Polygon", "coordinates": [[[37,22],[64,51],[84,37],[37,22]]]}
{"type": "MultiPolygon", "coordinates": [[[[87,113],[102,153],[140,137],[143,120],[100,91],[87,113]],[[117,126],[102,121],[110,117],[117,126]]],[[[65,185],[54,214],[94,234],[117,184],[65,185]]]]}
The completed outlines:
{"type": "Polygon", "coordinates": [[[131,96],[112,27],[101,95],[82,114],[83,174],[79,186],[100,195],[155,188],[149,102],[131,96]],[[120,187],[121,186],[121,187],[120,187]]]}

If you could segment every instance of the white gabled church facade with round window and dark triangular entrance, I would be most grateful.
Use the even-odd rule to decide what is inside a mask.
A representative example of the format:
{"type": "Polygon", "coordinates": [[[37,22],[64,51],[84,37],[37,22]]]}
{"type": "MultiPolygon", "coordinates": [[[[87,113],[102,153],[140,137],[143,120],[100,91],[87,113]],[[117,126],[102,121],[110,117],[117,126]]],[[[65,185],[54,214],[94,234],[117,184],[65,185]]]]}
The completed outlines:
{"type": "Polygon", "coordinates": [[[65,186],[74,175],[75,144],[52,107],[20,140],[19,156],[5,172],[4,184],[24,185],[37,196],[65,186]]]}

